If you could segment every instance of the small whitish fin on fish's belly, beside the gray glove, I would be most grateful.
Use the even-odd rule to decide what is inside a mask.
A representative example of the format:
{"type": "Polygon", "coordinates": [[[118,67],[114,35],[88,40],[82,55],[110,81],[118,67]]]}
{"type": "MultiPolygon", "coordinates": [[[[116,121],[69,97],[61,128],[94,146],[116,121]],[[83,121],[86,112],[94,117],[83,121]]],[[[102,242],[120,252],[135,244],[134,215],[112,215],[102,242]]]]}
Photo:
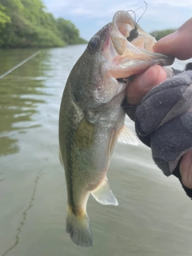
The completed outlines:
{"type": "Polygon", "coordinates": [[[132,144],[132,145],[138,145],[138,140],[134,134],[126,127],[126,125],[123,125],[118,130],[118,142],[132,144]]]}

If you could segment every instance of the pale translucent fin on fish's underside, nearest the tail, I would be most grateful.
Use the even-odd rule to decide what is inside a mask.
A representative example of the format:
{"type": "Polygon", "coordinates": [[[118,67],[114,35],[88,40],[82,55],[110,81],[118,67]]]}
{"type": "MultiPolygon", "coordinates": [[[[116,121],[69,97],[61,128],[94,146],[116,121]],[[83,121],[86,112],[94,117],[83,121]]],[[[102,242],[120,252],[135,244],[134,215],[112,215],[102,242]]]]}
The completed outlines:
{"type": "Polygon", "coordinates": [[[100,202],[102,205],[114,205],[118,206],[118,200],[110,190],[107,178],[105,178],[98,188],[91,192],[93,197],[100,202]]]}

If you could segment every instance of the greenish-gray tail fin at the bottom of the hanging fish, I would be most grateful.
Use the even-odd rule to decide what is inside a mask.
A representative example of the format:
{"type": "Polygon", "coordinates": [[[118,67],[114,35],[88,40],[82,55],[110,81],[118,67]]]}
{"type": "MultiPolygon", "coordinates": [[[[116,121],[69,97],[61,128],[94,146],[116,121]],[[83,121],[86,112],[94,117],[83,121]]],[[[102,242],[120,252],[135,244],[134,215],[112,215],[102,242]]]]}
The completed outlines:
{"type": "Polygon", "coordinates": [[[78,246],[93,246],[93,234],[90,219],[87,214],[75,216],[68,208],[66,216],[66,232],[70,233],[71,240],[78,246]]]}

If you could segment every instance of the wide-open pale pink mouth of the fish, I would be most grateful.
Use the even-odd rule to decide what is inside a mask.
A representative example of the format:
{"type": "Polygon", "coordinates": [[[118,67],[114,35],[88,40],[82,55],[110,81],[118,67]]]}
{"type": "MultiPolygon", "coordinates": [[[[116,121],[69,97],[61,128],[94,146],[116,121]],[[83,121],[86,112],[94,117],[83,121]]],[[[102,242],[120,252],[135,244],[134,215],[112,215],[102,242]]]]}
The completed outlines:
{"type": "Polygon", "coordinates": [[[139,74],[150,66],[167,66],[174,58],[153,52],[155,38],[135,25],[129,11],[120,10],[109,24],[106,54],[111,57],[110,74],[116,79],[139,74]],[[131,36],[136,32],[137,36],[131,36]]]}

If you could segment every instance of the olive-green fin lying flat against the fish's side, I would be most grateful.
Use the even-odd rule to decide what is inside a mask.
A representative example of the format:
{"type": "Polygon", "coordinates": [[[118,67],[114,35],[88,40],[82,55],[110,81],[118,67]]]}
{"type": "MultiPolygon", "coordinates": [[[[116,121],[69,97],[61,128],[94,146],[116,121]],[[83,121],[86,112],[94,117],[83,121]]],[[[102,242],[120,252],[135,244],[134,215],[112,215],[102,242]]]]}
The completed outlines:
{"type": "Polygon", "coordinates": [[[74,134],[74,142],[79,148],[89,148],[94,143],[95,125],[86,117],[82,118],[74,134]]]}

